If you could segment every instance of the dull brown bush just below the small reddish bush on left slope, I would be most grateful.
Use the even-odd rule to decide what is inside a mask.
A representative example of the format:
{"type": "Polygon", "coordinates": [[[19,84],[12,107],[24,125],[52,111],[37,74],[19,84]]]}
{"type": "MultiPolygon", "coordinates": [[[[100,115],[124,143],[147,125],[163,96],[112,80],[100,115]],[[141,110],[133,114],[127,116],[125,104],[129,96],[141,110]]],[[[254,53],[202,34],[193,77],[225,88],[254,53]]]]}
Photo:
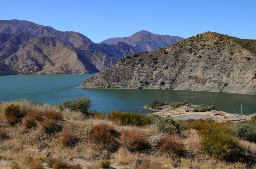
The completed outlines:
{"type": "Polygon", "coordinates": [[[45,134],[52,134],[62,129],[62,126],[54,120],[45,120],[40,122],[40,125],[45,134]]]}

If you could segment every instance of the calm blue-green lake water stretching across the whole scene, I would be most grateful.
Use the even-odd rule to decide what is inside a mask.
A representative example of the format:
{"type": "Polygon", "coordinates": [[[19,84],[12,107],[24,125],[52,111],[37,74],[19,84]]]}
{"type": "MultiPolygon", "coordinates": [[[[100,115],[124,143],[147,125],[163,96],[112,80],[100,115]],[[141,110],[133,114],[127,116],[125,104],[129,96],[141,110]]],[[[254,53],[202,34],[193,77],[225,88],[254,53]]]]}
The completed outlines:
{"type": "Polygon", "coordinates": [[[229,113],[239,112],[241,103],[244,115],[256,112],[256,95],[220,92],[157,90],[157,89],[82,89],[80,83],[94,74],[36,74],[0,76],[0,101],[26,98],[31,102],[42,101],[60,104],[66,99],[91,98],[93,109],[110,112],[124,110],[147,112],[143,105],[152,100],[193,104],[213,104],[229,113]]]}

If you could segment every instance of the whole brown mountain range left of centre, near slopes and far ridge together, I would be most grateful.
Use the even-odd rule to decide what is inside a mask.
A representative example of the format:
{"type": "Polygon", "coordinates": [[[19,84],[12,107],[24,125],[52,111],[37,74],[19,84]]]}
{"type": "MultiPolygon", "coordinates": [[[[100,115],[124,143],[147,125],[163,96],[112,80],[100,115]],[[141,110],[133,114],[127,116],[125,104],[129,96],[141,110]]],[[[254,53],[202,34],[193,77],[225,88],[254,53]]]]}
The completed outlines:
{"type": "Polygon", "coordinates": [[[97,73],[141,52],[138,48],[122,41],[97,44],[81,33],[29,21],[0,20],[0,75],[97,73]]]}

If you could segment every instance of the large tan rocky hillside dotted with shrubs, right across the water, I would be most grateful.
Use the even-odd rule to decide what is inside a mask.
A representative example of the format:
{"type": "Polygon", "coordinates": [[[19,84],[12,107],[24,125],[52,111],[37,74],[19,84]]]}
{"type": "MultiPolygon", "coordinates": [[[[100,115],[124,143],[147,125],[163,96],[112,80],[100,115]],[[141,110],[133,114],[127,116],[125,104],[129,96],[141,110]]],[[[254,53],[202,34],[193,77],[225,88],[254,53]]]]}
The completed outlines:
{"type": "Polygon", "coordinates": [[[123,57],[82,88],[154,88],[256,94],[256,40],[205,32],[123,57]]]}

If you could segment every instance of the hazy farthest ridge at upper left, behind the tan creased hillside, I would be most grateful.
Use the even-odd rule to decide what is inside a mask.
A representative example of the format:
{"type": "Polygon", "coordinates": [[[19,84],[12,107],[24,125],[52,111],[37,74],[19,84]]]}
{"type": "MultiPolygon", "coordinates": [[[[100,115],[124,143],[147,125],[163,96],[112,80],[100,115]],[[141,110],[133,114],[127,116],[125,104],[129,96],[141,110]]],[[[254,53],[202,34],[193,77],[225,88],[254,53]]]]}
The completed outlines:
{"type": "Polygon", "coordinates": [[[29,21],[21,20],[0,20],[0,33],[26,32],[34,37],[50,36],[56,37],[70,46],[80,47],[88,42],[92,42],[81,33],[67,31],[62,32],[50,26],[38,25],[29,21]]]}

